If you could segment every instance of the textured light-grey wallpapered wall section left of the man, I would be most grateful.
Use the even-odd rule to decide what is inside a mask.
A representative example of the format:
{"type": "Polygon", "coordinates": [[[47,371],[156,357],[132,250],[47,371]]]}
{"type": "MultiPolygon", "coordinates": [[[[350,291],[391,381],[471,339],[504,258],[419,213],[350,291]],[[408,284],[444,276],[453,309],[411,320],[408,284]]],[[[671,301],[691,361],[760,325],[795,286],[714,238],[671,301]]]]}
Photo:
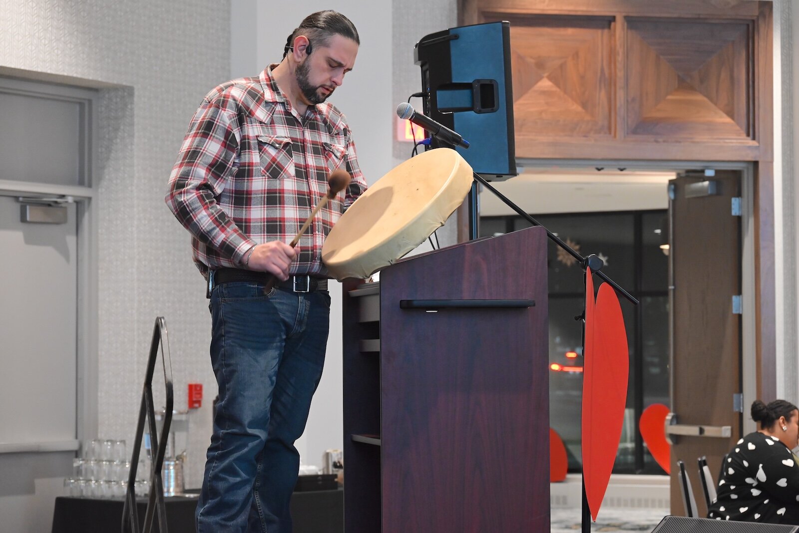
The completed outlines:
{"type": "Polygon", "coordinates": [[[203,280],[191,263],[189,234],[163,197],[190,117],[229,77],[229,11],[218,0],[0,1],[0,67],[101,88],[93,200],[99,436],[125,438],[130,449],[153,324],[163,315],[176,409],[185,409],[190,381],[211,396],[190,417],[189,487],[201,482],[216,383],[203,280]]]}

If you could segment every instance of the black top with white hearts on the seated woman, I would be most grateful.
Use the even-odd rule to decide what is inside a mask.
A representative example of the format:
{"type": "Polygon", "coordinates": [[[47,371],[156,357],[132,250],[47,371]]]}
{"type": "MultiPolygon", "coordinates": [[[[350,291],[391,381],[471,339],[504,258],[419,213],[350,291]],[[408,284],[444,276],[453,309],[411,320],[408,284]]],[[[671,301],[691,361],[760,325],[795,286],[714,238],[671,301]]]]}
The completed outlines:
{"type": "Polygon", "coordinates": [[[729,452],[708,516],[718,520],[796,523],[799,465],[777,437],[753,432],[729,452]]]}

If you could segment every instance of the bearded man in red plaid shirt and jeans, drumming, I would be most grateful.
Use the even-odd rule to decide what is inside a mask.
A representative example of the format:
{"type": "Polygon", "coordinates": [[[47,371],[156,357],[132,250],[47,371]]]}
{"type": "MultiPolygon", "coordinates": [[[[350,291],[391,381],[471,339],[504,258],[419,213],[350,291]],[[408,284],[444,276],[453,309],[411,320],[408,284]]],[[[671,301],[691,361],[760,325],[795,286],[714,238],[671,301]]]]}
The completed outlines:
{"type": "Polygon", "coordinates": [[[197,531],[292,531],[294,442],[328,338],[322,245],[366,190],[346,119],[326,102],[359,44],[344,15],[309,15],[288,36],[280,64],[205,97],[169,179],[166,203],[191,232],[194,262],[209,282],[219,385],[197,531]],[[288,246],[336,169],[352,182],[298,247],[288,246]],[[264,294],[271,275],[280,281],[264,294]]]}

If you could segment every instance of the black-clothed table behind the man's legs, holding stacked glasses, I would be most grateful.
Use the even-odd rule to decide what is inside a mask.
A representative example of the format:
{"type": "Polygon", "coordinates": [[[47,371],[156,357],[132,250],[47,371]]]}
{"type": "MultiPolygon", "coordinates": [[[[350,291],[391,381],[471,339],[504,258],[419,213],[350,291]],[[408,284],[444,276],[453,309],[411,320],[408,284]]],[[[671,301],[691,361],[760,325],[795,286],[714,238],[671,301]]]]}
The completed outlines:
{"type": "MultiPolygon", "coordinates": [[[[124,500],[73,498],[55,499],[53,533],[109,533],[121,530],[124,500]]],[[[194,533],[197,495],[164,498],[166,527],[169,533],[194,533]]],[[[142,527],[147,499],[137,500],[139,527],[142,527]]],[[[302,491],[292,495],[294,533],[343,533],[344,490],[302,491]]],[[[158,531],[156,519],[153,531],[158,531]]]]}

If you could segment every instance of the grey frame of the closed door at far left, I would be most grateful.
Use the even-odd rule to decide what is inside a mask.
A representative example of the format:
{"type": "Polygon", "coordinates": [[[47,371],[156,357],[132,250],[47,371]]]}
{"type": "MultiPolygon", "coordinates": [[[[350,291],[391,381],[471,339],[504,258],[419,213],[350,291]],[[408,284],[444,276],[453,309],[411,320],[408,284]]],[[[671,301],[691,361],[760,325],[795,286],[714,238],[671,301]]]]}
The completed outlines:
{"type": "Polygon", "coordinates": [[[70,85],[50,84],[42,81],[27,81],[0,77],[0,91],[39,95],[65,101],[78,101],[86,106],[83,118],[85,142],[82,148],[84,164],[81,172],[85,185],[42,184],[3,179],[0,175],[0,195],[5,196],[69,196],[76,203],[78,223],[78,302],[75,310],[78,318],[76,369],[76,442],[73,443],[26,443],[0,448],[2,452],[61,452],[80,451],[80,443],[97,437],[99,390],[98,369],[98,280],[97,280],[97,107],[100,92],[70,85]]]}

